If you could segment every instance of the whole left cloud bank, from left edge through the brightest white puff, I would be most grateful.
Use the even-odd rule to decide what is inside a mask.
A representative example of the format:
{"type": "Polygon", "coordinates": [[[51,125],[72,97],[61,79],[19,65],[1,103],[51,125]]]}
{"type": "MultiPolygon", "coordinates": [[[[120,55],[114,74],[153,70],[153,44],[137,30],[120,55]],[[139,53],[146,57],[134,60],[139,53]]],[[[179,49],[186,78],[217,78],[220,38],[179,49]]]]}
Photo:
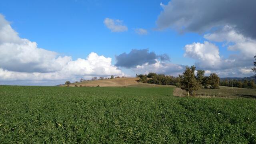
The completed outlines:
{"type": "Polygon", "coordinates": [[[92,52],[86,59],[38,48],[20,38],[0,14],[0,80],[77,80],[88,76],[124,75],[112,59],[92,52]]]}

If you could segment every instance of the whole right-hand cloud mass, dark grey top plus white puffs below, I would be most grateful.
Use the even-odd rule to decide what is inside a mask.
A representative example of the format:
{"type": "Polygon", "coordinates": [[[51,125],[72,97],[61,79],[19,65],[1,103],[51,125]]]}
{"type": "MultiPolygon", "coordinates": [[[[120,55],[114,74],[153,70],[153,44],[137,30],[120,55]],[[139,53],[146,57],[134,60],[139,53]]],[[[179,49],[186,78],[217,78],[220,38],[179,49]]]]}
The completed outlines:
{"type": "Polygon", "coordinates": [[[172,0],[160,4],[163,11],[156,22],[159,29],[173,28],[179,32],[204,34],[210,42],[192,43],[184,47],[184,56],[196,60],[198,69],[220,76],[250,76],[256,52],[255,0],[172,0]],[[233,51],[227,58],[219,47],[233,51]]]}

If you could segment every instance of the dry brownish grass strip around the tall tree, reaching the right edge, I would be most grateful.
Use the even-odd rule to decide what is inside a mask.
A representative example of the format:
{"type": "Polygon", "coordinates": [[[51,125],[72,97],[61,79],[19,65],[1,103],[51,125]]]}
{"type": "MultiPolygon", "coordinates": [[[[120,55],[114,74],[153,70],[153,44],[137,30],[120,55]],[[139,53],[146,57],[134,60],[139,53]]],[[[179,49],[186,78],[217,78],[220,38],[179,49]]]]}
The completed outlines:
{"type": "MultiPolygon", "coordinates": [[[[187,92],[180,88],[175,88],[174,96],[187,96],[187,92]]],[[[256,89],[250,88],[232,88],[227,86],[220,86],[219,89],[205,89],[201,88],[196,91],[196,97],[222,97],[222,98],[256,98],[256,89]]]]}

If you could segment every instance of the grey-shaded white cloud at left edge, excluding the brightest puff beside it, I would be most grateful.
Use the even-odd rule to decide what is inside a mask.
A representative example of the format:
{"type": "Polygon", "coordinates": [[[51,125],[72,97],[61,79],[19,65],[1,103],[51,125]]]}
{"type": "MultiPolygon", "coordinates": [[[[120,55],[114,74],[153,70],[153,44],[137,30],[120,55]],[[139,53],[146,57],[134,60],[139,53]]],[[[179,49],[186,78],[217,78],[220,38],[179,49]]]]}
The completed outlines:
{"type": "Polygon", "coordinates": [[[0,14],[0,66],[18,72],[54,72],[60,70],[69,56],[38,48],[36,42],[20,38],[0,14]]]}

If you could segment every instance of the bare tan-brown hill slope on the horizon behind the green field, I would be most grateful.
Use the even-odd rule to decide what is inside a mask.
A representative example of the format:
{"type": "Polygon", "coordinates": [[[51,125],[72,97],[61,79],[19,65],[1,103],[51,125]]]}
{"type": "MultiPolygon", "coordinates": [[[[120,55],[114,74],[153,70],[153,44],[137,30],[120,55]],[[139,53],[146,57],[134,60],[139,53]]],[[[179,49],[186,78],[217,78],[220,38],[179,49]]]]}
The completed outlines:
{"type": "Polygon", "coordinates": [[[141,84],[138,82],[140,78],[113,78],[106,80],[89,80],[84,82],[72,83],[69,86],[130,86],[141,84]]]}

